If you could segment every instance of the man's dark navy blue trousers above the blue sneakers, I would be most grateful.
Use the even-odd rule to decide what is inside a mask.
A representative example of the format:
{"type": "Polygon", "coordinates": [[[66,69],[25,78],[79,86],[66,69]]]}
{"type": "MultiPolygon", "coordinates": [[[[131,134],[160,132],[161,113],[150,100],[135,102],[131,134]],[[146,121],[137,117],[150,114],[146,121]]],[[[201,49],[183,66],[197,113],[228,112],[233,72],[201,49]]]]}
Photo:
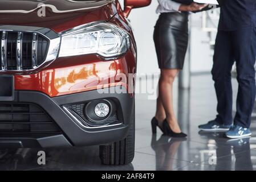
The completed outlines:
{"type": "Polygon", "coordinates": [[[231,68],[236,63],[238,95],[234,124],[249,128],[255,101],[256,27],[218,31],[212,69],[217,94],[216,121],[233,124],[231,68]]]}

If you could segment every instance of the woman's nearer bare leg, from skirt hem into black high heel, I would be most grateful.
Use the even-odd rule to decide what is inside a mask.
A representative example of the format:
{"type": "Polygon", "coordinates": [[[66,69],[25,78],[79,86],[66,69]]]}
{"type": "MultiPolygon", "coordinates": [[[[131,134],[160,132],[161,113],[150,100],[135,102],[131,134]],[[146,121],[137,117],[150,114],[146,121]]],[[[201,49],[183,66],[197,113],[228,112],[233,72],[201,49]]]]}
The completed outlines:
{"type": "Polygon", "coordinates": [[[159,97],[165,110],[166,120],[175,133],[181,133],[173,109],[173,82],[179,71],[179,69],[161,69],[159,81],[159,97]]]}

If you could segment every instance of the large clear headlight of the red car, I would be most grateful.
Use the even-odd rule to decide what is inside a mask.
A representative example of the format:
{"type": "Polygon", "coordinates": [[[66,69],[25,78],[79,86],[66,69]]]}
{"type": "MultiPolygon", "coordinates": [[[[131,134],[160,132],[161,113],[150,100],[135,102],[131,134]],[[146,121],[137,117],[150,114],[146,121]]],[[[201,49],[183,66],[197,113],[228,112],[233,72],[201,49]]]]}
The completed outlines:
{"type": "Polygon", "coordinates": [[[112,58],[124,55],[129,47],[125,30],[112,23],[96,22],[64,32],[59,57],[97,54],[112,58]]]}

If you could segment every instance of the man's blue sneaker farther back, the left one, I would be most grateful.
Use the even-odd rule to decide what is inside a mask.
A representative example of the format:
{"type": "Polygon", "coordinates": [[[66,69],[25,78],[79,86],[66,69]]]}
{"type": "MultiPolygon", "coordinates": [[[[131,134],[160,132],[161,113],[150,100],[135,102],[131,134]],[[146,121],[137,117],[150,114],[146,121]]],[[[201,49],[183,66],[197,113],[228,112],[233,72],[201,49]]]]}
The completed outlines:
{"type": "Polygon", "coordinates": [[[202,131],[229,131],[231,125],[220,125],[217,121],[209,121],[207,124],[198,127],[202,131]]]}

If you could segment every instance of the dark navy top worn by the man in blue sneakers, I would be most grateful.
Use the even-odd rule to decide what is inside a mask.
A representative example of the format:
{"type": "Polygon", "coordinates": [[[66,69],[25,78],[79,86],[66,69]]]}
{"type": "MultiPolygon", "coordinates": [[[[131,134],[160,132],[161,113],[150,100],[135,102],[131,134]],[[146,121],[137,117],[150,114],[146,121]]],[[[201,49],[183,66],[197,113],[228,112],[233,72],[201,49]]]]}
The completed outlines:
{"type": "Polygon", "coordinates": [[[219,0],[219,3],[219,30],[234,31],[241,27],[256,27],[256,0],[219,0]]]}

